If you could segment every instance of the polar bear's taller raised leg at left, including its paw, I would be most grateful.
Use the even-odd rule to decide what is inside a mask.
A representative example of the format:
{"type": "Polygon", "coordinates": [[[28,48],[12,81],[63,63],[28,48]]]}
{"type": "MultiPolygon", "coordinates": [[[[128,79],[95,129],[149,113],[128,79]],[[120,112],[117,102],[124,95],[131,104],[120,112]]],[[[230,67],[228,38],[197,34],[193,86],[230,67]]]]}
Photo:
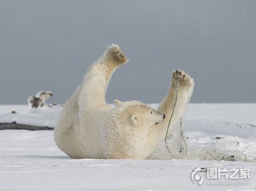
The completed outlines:
{"type": "MultiPolygon", "coordinates": [[[[106,105],[105,91],[113,72],[128,61],[125,54],[112,44],[105,53],[87,70],[78,99],[80,108],[98,108],[106,105]],[[83,107],[85,105],[86,107],[83,107]],[[88,107],[89,106],[89,107],[88,107]]],[[[84,113],[79,111],[79,113],[84,113]]]]}

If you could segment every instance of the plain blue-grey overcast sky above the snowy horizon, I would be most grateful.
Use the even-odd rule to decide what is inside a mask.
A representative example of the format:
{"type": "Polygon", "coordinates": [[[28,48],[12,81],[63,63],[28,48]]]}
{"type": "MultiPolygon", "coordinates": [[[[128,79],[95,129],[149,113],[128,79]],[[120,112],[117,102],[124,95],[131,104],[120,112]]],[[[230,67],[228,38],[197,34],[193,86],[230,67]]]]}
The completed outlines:
{"type": "Polygon", "coordinates": [[[107,102],[160,102],[178,68],[192,102],[256,102],[256,1],[0,2],[0,104],[63,103],[112,42],[130,61],[107,102]]]}

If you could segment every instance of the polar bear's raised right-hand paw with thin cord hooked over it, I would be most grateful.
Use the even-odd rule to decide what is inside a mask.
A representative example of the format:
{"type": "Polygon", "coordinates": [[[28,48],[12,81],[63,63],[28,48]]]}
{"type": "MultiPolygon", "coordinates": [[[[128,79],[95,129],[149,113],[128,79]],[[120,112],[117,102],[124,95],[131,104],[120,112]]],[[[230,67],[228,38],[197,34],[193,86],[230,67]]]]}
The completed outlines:
{"type": "Polygon", "coordinates": [[[173,84],[178,82],[182,87],[193,87],[194,80],[188,74],[186,74],[183,70],[175,70],[172,72],[172,81],[173,84]]]}

